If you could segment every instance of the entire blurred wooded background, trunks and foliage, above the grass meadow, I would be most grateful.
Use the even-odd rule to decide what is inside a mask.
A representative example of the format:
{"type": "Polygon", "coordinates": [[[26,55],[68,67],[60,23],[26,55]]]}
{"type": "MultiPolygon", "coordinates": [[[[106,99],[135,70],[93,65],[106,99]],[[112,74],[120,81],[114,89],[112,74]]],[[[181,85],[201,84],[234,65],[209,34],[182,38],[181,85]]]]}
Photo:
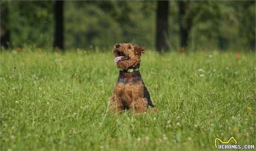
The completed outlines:
{"type": "Polygon", "coordinates": [[[254,51],[255,1],[0,1],[1,49],[254,51]]]}

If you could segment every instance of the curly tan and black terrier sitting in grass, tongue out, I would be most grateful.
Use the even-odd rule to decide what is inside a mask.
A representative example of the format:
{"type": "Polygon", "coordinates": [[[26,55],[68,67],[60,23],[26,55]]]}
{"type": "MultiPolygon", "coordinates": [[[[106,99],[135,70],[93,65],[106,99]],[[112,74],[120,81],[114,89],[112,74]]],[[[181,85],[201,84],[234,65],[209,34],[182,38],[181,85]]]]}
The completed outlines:
{"type": "Polygon", "coordinates": [[[119,43],[114,46],[114,62],[119,69],[119,77],[109,98],[111,111],[119,113],[133,109],[136,113],[143,113],[149,106],[156,111],[139,72],[142,53],[145,53],[145,48],[138,45],[119,43]]]}

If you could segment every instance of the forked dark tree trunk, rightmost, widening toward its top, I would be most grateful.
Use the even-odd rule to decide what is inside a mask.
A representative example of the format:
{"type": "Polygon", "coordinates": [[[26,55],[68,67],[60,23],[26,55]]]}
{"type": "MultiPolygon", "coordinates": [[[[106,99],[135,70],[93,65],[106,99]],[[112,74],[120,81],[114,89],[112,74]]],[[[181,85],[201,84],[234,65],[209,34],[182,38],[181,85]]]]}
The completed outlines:
{"type": "Polygon", "coordinates": [[[186,9],[188,9],[189,2],[184,2],[183,0],[178,1],[179,5],[179,24],[180,24],[180,47],[187,47],[189,32],[192,26],[192,16],[186,14],[186,9]],[[185,18],[185,15],[186,18],[185,18]]]}

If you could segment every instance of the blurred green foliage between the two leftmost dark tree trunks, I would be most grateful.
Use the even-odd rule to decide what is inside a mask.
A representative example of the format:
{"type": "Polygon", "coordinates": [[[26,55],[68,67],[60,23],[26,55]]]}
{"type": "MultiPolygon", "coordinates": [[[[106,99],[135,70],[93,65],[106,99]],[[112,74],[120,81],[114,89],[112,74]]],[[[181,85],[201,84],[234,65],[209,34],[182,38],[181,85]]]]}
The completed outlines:
{"type": "Polygon", "coordinates": [[[53,39],[52,1],[9,1],[11,46],[51,47],[53,39]]]}

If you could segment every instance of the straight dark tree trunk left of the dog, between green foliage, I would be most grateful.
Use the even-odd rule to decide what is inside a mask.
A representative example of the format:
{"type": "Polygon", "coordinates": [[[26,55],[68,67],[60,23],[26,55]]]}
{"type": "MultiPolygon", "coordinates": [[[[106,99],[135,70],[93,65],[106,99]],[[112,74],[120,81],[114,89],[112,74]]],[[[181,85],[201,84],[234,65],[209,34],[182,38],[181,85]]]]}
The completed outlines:
{"type": "Polygon", "coordinates": [[[54,19],[55,19],[55,31],[54,31],[54,48],[64,49],[64,33],[63,33],[63,1],[56,0],[54,2],[54,19]]]}

